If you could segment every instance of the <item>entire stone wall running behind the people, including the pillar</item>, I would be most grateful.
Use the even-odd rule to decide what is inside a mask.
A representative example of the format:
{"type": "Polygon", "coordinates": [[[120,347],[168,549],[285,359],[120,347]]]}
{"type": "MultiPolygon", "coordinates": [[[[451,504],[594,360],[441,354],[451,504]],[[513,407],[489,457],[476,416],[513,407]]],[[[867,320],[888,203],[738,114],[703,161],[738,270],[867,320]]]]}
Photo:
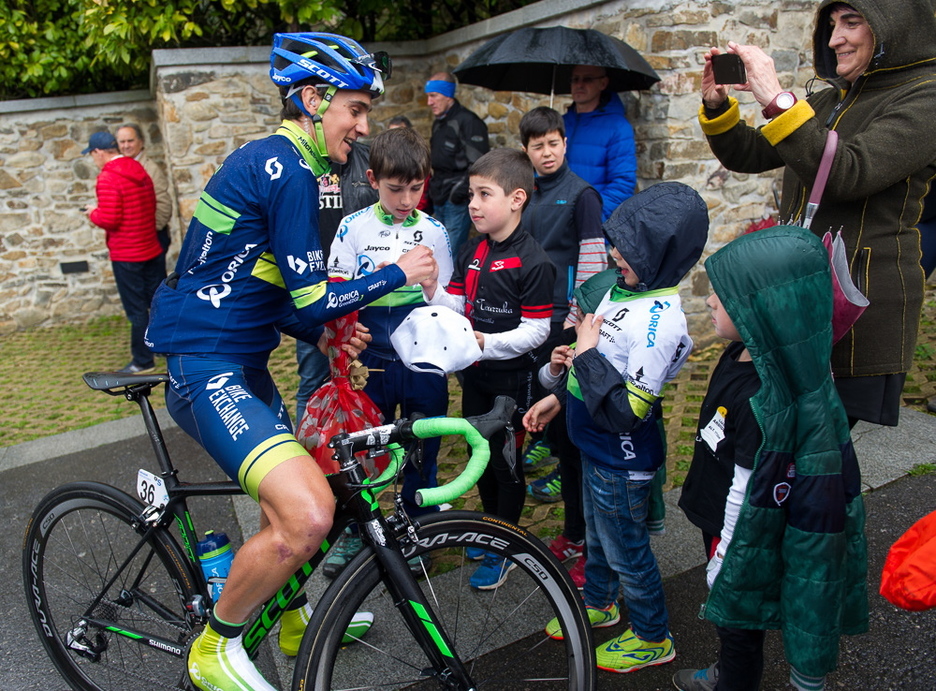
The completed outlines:
{"type": "MultiPolygon", "coordinates": [[[[760,45],[773,55],[781,83],[802,94],[802,85],[812,76],[814,8],[812,1],[794,0],[543,0],[429,41],[374,45],[393,56],[394,76],[373,111],[372,134],[390,117],[405,114],[428,136],[425,80],[433,72],[452,69],[497,33],[530,25],[604,31],[632,45],[662,78],[649,91],[623,94],[638,142],[638,185],[679,180],[699,190],[711,214],[706,249],[711,253],[773,210],[775,176],[729,173],[712,157],[696,121],[702,55],[728,40],[760,45]]],[[[77,108],[57,112],[55,118],[34,115],[23,123],[0,112],[0,329],[114,309],[116,294],[101,234],[77,210],[93,196],[94,171],[78,153],[87,135],[131,118],[130,113],[148,123],[150,151],[164,144],[178,227],[184,228],[224,157],[244,142],[266,136],[279,121],[268,55],[266,48],[155,51],[155,101],[133,104],[132,110],[127,104],[104,113],[77,108]],[[57,275],[57,262],[64,256],[86,258],[94,271],[79,278],[57,275]]],[[[549,105],[548,96],[467,85],[459,87],[458,98],[488,123],[492,146],[518,147],[522,114],[549,105]]],[[[753,99],[741,94],[740,100],[744,117],[758,122],[753,99]]],[[[557,96],[553,106],[564,111],[569,102],[567,96],[557,96]]],[[[711,338],[703,305],[708,291],[700,265],[687,277],[682,294],[701,342],[711,338]]]]}

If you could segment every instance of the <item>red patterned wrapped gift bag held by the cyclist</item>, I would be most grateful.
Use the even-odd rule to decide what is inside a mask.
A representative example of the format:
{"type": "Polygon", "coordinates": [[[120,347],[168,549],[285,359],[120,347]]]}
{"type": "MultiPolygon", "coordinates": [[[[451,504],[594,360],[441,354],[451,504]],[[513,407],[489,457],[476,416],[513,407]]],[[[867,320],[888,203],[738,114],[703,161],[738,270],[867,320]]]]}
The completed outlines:
{"type": "MultiPolygon", "coordinates": [[[[358,432],[382,423],[380,410],[362,389],[360,381],[366,369],[361,363],[341,350],[354,335],[357,312],[330,321],[325,325],[325,338],[328,342],[328,360],[331,379],[312,394],[306,405],[296,438],[312,454],[319,467],[326,475],[338,472],[338,461],[332,459],[334,451],[328,448],[329,440],[341,432],[358,432]],[[357,388],[355,388],[355,386],[357,388]]],[[[366,375],[364,375],[366,380],[366,375]]],[[[362,452],[366,456],[366,452],[362,452]]],[[[367,460],[368,474],[373,475],[386,467],[389,460],[381,457],[383,464],[367,460]],[[380,467],[382,465],[382,467],[380,467]]],[[[379,459],[378,459],[379,460],[379,459]]]]}

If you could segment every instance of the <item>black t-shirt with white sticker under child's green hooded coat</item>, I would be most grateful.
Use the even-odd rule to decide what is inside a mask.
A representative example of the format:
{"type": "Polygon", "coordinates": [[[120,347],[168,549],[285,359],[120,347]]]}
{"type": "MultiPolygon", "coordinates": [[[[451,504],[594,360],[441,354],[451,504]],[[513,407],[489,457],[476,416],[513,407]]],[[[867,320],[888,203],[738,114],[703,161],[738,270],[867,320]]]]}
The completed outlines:
{"type": "Polygon", "coordinates": [[[753,362],[738,362],[742,350],[743,343],[729,344],[712,373],[679,499],[689,521],[716,537],[724,524],[734,467],[754,467],[763,436],[750,401],[760,389],[760,377],[753,362]]]}

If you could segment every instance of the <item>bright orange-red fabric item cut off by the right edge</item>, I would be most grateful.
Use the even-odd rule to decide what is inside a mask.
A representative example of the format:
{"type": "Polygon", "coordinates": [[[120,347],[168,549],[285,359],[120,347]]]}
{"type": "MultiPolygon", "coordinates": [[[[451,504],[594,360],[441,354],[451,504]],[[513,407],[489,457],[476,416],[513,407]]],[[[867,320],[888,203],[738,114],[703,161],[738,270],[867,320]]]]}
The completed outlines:
{"type": "Polygon", "coordinates": [[[881,595],[901,609],[936,607],[936,511],[910,526],[887,553],[881,595]]]}

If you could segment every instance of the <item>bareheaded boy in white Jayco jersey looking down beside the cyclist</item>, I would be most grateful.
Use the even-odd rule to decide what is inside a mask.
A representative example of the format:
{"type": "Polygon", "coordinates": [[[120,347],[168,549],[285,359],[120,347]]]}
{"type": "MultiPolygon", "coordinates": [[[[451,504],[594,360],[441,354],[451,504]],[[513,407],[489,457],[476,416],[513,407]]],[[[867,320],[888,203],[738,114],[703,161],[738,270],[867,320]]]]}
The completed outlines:
{"type": "MultiPolygon", "coordinates": [[[[416,130],[394,128],[374,138],[367,179],[377,190],[379,201],[341,221],[329,255],[332,280],[367,276],[417,245],[425,245],[433,250],[439,280],[448,283],[452,275],[448,234],[441,223],[416,208],[430,166],[429,145],[416,130]]],[[[447,378],[407,369],[390,342],[390,334],[406,316],[425,304],[420,286],[404,286],[370,303],[358,316],[373,336],[368,350],[360,355],[370,370],[364,392],[386,422],[416,412],[429,417],[445,415],[448,410],[447,378]]],[[[436,486],[440,441],[425,441],[421,469],[409,465],[403,469],[403,503],[411,516],[437,510],[417,506],[415,495],[418,489],[436,486]]],[[[323,572],[336,576],[358,551],[359,538],[346,534],[325,560],[323,572]]],[[[415,562],[413,567],[420,568],[415,562]]]]}

